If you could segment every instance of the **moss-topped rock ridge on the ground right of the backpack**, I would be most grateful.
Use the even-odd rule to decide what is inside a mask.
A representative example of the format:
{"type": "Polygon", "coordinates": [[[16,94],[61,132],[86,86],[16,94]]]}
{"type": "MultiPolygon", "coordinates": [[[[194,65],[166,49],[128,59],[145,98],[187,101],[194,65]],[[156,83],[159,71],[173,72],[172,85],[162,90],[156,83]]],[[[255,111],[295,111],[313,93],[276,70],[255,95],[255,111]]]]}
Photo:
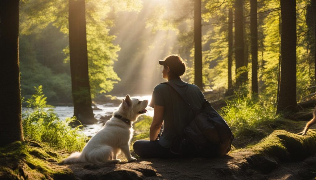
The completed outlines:
{"type": "Polygon", "coordinates": [[[233,151],[234,155],[245,156],[254,169],[264,173],[275,169],[279,162],[296,162],[316,153],[316,131],[300,136],[284,130],[273,131],[258,144],[233,151]]]}

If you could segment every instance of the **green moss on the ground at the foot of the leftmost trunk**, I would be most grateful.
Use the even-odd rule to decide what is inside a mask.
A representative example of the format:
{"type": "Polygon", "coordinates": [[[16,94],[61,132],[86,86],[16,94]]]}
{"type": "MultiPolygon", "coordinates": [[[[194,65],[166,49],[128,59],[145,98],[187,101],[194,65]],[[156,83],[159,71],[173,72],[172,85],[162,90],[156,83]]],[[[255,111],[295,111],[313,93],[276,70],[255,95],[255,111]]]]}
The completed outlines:
{"type": "Polygon", "coordinates": [[[2,179],[74,179],[64,167],[52,168],[49,162],[61,160],[47,145],[34,142],[14,142],[0,148],[0,177],[2,179]],[[36,147],[33,147],[35,145],[36,147]],[[41,148],[38,148],[41,147],[41,148]]]}

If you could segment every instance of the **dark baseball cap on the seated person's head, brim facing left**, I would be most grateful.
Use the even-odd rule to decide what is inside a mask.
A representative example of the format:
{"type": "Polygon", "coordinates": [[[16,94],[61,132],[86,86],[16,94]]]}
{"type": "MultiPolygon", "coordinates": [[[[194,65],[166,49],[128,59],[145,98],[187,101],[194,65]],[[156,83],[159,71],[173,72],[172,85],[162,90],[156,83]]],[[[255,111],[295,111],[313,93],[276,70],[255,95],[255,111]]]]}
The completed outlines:
{"type": "Polygon", "coordinates": [[[169,55],[165,60],[158,61],[160,65],[169,66],[170,71],[178,76],[185,72],[185,64],[178,55],[169,55]]]}

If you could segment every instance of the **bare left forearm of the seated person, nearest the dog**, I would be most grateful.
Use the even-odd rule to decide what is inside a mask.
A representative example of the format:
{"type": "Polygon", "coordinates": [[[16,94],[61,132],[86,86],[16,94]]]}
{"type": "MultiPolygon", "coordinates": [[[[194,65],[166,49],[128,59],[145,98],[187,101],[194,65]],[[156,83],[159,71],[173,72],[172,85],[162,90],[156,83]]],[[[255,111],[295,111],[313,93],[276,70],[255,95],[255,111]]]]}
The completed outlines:
{"type": "Polygon", "coordinates": [[[149,129],[149,140],[155,141],[157,139],[158,133],[161,129],[161,125],[163,122],[163,113],[165,107],[154,105],[154,118],[151,122],[150,129],[149,129]]]}

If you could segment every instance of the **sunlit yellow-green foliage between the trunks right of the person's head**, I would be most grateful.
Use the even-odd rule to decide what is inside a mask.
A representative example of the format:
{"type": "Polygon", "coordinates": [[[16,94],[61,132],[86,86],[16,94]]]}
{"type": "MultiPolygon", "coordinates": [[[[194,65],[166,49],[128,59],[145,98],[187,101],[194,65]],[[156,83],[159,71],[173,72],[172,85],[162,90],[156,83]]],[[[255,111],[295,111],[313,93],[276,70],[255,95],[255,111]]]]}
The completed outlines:
{"type": "MultiPolygon", "coordinates": [[[[189,1],[175,1],[181,4],[189,1]]],[[[297,100],[313,93],[308,87],[315,84],[313,63],[313,15],[310,1],[297,2],[297,100]],[[309,13],[308,13],[309,10],[309,13]]],[[[234,1],[202,1],[202,48],[203,48],[203,85],[204,89],[222,91],[228,86],[228,10],[234,11],[234,1]]],[[[164,15],[157,19],[149,19],[154,30],[166,30],[158,22],[173,23],[173,28],[180,30],[178,42],[180,55],[187,61],[185,80],[194,81],[194,40],[193,40],[193,6],[186,11],[172,13],[161,10],[164,15]],[[178,15],[174,15],[178,14],[178,15]],[[157,27],[158,26],[158,27],[157,27]],[[185,27],[185,28],[183,28],[185,27]],[[189,53],[188,53],[189,52],[189,53]]],[[[247,89],[251,88],[251,47],[250,47],[250,4],[244,2],[244,42],[245,61],[248,62],[247,89]]],[[[273,97],[276,103],[280,58],[280,2],[273,0],[258,1],[258,88],[259,94],[273,97]]],[[[234,18],[233,18],[234,19],[234,18]]],[[[169,26],[171,27],[171,26],[169,26]]],[[[172,28],[169,28],[172,29],[172,28]]],[[[232,79],[235,81],[236,71],[233,56],[232,79]]],[[[238,72],[237,72],[238,73],[238,72]]]]}

